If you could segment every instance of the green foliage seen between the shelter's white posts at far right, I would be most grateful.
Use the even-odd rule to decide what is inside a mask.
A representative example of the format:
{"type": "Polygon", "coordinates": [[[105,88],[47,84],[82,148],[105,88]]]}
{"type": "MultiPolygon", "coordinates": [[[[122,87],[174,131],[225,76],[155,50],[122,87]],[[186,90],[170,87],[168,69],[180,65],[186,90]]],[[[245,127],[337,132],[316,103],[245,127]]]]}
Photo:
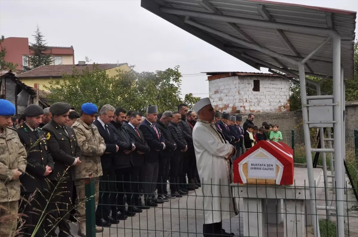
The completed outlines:
{"type": "MultiPolygon", "coordinates": [[[[306,78],[319,82],[321,79],[313,76],[306,76],[306,78]]],[[[326,94],[333,94],[332,79],[328,79],[321,84],[321,91],[326,94]]],[[[308,95],[316,95],[316,92],[307,89],[308,95]]],[[[358,100],[358,42],[354,44],[354,79],[345,80],[345,100],[358,100]]],[[[300,86],[291,83],[290,85],[290,110],[294,111],[301,109],[301,92],[300,86]]]]}

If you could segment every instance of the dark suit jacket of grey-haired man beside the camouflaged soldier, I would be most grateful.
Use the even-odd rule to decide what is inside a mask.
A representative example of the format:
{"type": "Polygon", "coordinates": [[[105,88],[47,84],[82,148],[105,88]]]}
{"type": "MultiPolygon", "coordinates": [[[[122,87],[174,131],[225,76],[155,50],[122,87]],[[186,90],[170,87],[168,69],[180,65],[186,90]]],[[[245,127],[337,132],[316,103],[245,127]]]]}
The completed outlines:
{"type": "Polygon", "coordinates": [[[98,132],[100,133],[103,140],[105,140],[105,144],[106,144],[105,153],[101,155],[102,169],[112,168],[115,164],[116,145],[118,143],[116,131],[113,129],[112,126],[110,127],[107,125],[108,131],[110,132],[110,134],[108,134],[107,131],[103,128],[100,121],[98,121],[98,119],[93,121],[93,124],[96,125],[98,132]]]}

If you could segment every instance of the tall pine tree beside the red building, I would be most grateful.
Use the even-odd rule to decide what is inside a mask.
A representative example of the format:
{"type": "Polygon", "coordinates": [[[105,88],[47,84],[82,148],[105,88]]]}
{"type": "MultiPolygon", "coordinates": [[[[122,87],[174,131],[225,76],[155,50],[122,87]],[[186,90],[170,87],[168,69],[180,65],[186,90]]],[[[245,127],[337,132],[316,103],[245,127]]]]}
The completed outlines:
{"type": "Polygon", "coordinates": [[[40,32],[39,26],[37,25],[37,30],[35,35],[32,35],[35,38],[35,43],[31,43],[30,49],[33,53],[29,56],[29,66],[30,69],[37,68],[42,65],[50,65],[53,63],[52,55],[47,54],[47,43],[44,40],[43,34],[40,32]]]}

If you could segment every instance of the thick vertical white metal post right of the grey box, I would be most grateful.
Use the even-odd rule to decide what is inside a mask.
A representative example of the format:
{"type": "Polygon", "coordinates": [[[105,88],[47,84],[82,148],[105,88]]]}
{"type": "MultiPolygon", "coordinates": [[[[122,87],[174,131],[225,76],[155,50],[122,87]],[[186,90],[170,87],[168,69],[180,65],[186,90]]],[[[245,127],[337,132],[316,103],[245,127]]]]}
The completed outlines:
{"type": "Polygon", "coordinates": [[[336,206],[337,206],[337,236],[344,236],[344,194],[343,194],[343,157],[342,157],[342,101],[341,101],[341,71],[340,71],[340,36],[333,37],[333,107],[334,128],[334,165],[336,181],[336,206]]]}

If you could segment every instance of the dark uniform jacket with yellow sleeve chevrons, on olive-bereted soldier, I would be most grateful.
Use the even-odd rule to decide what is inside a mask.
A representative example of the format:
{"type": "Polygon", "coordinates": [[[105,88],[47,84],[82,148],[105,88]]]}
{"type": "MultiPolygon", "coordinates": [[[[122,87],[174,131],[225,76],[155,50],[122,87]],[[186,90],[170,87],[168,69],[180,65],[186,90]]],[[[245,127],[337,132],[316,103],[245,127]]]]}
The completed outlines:
{"type": "Polygon", "coordinates": [[[47,132],[46,141],[48,150],[54,161],[54,169],[48,175],[48,179],[59,180],[66,169],[68,169],[67,173],[63,176],[64,180],[75,180],[76,168],[72,164],[76,157],[81,157],[81,148],[77,144],[74,130],[67,125],[63,128],[54,120],[46,124],[42,130],[47,132]],[[64,129],[67,130],[68,135],[64,129]]]}

